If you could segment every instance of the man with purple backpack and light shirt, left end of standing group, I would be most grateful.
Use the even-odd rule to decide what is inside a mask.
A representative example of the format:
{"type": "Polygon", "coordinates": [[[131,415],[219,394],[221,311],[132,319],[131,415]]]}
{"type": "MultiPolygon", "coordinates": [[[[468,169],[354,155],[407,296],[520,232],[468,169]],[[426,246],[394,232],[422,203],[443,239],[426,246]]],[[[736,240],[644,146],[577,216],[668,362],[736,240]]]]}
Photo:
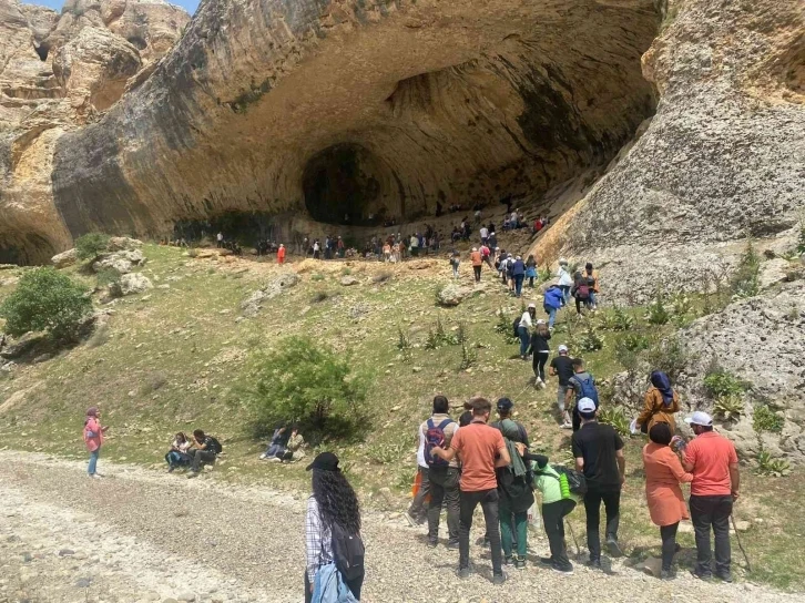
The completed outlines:
{"type": "Polygon", "coordinates": [[[445,396],[434,398],[432,416],[419,426],[419,438],[424,442],[422,459],[428,466],[428,482],[430,484],[430,503],[427,510],[428,517],[428,546],[436,546],[439,543],[439,520],[441,507],[447,507],[447,546],[458,548],[458,518],[459,505],[459,466],[458,459],[449,462],[432,453],[435,443],[442,440],[444,448],[450,448],[452,438],[456,435],[458,425],[448,415],[450,405],[445,396]],[[430,440],[430,441],[429,441],[430,440]],[[427,453],[425,453],[427,450],[427,453]]]}

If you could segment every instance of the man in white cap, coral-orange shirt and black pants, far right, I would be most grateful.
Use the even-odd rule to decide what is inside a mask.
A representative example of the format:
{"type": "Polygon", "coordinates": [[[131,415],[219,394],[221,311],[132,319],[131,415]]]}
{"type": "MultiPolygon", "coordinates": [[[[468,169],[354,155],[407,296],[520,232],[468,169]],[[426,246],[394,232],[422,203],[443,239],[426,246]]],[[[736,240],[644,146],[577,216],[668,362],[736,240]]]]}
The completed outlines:
{"type": "Polygon", "coordinates": [[[696,437],[685,448],[682,467],[693,473],[691,482],[691,519],[696,535],[696,565],[693,575],[710,580],[710,531],[715,538],[715,575],[732,582],[730,515],[738,498],[741,473],[735,446],[713,431],[710,415],[696,411],[685,419],[696,437]]]}

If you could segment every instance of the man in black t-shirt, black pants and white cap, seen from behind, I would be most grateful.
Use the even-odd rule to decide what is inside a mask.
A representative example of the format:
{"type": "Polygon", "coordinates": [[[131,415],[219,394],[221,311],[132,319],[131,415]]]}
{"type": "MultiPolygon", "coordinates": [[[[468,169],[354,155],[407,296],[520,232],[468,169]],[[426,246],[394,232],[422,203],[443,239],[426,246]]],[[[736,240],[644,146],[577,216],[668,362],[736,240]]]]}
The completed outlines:
{"type": "Polygon", "coordinates": [[[607,548],[612,556],[621,556],[618,545],[621,487],[623,486],[626,459],[623,456],[623,440],[612,427],[595,420],[595,402],[582,398],[578,406],[581,429],[573,433],[572,446],[577,471],[583,471],[587,479],[584,511],[587,512],[587,546],[590,550],[588,565],[601,568],[601,502],[607,510],[607,548]]]}

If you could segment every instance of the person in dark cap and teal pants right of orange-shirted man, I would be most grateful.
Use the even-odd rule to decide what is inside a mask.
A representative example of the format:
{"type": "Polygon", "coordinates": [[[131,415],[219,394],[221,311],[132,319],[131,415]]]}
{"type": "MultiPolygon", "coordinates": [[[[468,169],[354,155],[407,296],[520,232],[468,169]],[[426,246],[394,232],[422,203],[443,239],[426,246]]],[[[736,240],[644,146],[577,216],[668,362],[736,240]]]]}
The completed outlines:
{"type": "Polygon", "coordinates": [[[518,570],[526,569],[528,552],[528,510],[533,504],[531,476],[522,454],[528,450],[528,432],[522,423],[511,418],[514,403],[509,398],[498,400],[500,420],[492,423],[503,436],[511,463],[499,467],[498,514],[500,517],[500,538],[507,565],[512,563],[518,570]],[[522,450],[522,451],[521,451],[522,450]],[[512,531],[513,528],[513,531],[512,531]],[[517,556],[513,556],[513,542],[517,541],[517,556]]]}

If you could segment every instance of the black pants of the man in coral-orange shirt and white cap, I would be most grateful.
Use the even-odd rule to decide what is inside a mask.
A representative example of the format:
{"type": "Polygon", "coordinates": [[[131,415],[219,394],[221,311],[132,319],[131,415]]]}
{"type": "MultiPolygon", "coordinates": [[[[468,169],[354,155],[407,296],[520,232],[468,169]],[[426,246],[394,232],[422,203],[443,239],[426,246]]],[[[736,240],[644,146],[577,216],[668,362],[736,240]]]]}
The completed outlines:
{"type": "Polygon", "coordinates": [[[715,573],[730,573],[730,515],[732,497],[697,497],[691,494],[691,520],[696,534],[696,568],[699,575],[711,575],[710,530],[715,534],[715,573]]]}

